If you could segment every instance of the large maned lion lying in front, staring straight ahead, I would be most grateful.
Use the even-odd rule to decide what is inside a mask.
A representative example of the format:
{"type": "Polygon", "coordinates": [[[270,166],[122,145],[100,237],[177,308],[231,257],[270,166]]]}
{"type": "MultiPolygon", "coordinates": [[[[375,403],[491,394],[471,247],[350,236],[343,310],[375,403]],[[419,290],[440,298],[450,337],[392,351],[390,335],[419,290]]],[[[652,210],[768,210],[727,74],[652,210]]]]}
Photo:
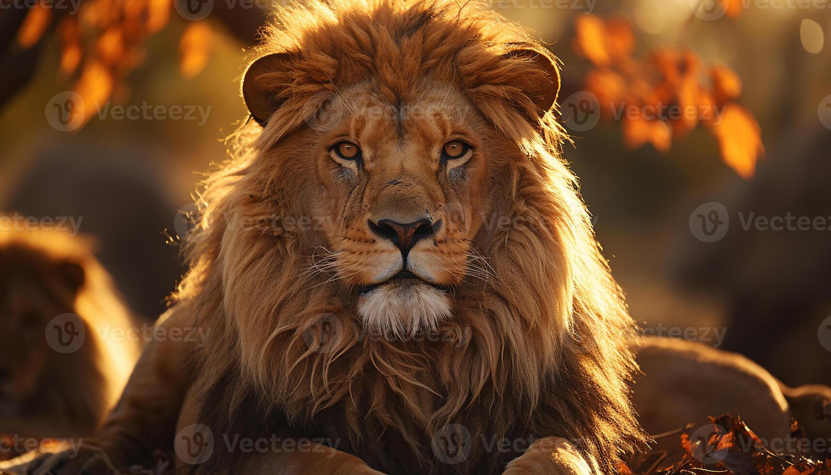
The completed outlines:
{"type": "Polygon", "coordinates": [[[484,2],[279,12],[189,271],[80,457],[189,473],[615,473],[637,326],[561,156],[559,65],[484,2]],[[289,442],[288,444],[286,442],[289,442]]]}

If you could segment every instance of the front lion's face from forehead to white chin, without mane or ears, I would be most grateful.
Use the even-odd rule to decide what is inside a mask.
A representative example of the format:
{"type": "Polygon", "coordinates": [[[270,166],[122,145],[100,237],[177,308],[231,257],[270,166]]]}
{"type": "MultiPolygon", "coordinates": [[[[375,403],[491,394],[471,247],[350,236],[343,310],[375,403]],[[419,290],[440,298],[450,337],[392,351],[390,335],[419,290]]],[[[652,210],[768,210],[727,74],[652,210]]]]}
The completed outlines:
{"type": "Polygon", "coordinates": [[[425,82],[391,104],[347,89],[301,132],[317,158],[328,265],[356,292],[364,323],[404,336],[451,313],[450,288],[483,268],[471,243],[489,193],[484,119],[460,91],[425,82]]]}

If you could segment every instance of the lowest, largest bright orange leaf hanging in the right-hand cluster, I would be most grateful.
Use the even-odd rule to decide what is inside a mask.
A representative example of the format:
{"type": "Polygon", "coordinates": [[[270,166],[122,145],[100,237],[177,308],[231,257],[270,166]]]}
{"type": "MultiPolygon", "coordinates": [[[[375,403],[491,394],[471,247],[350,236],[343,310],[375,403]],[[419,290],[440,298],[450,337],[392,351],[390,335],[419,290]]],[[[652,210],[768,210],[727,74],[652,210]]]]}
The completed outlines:
{"type": "Polygon", "coordinates": [[[765,152],[759,122],[744,107],[730,103],[721,121],[713,126],[721,160],[740,176],[753,176],[756,161],[765,152]]]}

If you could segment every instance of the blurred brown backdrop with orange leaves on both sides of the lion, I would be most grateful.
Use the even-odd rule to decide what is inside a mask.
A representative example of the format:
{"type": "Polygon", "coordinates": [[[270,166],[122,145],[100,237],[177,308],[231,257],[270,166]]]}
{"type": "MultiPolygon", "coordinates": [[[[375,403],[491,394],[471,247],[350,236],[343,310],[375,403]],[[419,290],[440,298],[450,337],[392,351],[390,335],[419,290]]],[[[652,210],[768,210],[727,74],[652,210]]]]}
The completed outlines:
{"type": "MultiPolygon", "coordinates": [[[[790,384],[831,383],[829,5],[491,2],[563,61],[565,158],[644,331],[740,351],[790,384]],[[616,114],[624,105],[634,114],[616,114]],[[704,112],[651,118],[644,106],[704,112]],[[811,229],[754,224],[789,215],[811,229]]],[[[0,210],[82,217],[128,303],[155,319],[182,272],[191,193],[246,117],[243,50],[279,7],[0,9],[0,210]]]]}

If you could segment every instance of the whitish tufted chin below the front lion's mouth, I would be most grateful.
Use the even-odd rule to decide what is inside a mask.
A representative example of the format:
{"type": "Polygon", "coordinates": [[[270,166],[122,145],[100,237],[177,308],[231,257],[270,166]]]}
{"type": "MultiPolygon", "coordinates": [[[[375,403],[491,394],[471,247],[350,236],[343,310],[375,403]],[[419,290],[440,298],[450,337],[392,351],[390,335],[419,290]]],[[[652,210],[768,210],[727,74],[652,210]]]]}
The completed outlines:
{"type": "Polygon", "coordinates": [[[366,329],[391,339],[412,339],[438,329],[450,316],[450,297],[419,280],[391,280],[361,294],[358,314],[366,329]]]}

